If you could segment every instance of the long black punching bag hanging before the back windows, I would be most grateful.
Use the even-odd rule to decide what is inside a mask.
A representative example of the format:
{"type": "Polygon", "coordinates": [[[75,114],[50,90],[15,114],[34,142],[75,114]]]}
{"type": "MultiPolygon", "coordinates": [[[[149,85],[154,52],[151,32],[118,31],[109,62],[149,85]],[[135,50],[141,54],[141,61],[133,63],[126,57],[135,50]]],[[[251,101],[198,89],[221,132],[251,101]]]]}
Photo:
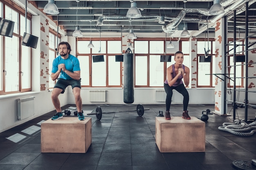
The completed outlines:
{"type": "Polygon", "coordinates": [[[133,54],[124,54],[124,102],[134,102],[133,54]]]}

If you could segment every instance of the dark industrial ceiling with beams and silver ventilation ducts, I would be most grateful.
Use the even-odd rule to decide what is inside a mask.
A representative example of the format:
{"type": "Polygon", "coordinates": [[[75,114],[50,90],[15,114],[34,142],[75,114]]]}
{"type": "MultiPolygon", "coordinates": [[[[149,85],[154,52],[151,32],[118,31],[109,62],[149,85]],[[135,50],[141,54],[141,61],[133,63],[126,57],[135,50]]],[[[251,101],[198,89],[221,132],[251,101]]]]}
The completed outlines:
{"type": "MultiPolygon", "coordinates": [[[[48,0],[33,1],[42,11],[48,3],[48,0]]],[[[227,17],[228,30],[233,32],[234,11],[236,29],[244,32],[246,2],[249,30],[253,33],[256,30],[256,0],[221,0],[225,13],[220,15],[209,15],[213,0],[55,0],[59,14],[46,15],[71,35],[79,26],[82,33],[128,33],[132,28],[135,33],[168,33],[179,37],[185,25],[191,36],[196,37],[207,30],[208,33],[214,32],[216,20],[224,16],[227,17]],[[126,17],[131,2],[137,3],[141,17],[126,17]]]]}

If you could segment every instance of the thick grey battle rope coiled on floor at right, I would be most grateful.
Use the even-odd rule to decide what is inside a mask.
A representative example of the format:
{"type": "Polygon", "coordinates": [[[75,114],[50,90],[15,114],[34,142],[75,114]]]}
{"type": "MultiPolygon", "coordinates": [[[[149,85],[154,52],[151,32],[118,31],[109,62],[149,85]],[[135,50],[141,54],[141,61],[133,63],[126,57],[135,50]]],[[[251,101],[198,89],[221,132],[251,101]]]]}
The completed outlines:
{"type": "Polygon", "coordinates": [[[244,120],[235,120],[234,123],[223,123],[223,126],[219,126],[218,129],[221,131],[227,131],[233,133],[235,135],[241,136],[251,136],[256,132],[256,121],[247,124],[244,120]],[[254,130],[252,130],[254,129],[254,130]],[[246,131],[250,131],[249,133],[245,133],[246,131]]]}

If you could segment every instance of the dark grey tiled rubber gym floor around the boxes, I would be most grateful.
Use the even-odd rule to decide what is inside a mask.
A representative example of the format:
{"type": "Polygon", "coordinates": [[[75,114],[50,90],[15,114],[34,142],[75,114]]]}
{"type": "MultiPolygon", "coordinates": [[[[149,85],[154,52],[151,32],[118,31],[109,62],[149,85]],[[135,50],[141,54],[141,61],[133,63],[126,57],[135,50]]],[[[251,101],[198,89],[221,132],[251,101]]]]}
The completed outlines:
{"type": "MultiPolygon", "coordinates": [[[[136,110],[137,105],[83,105],[84,111],[136,110]]],[[[40,123],[55,111],[0,133],[0,170],[234,170],[232,162],[256,159],[256,134],[241,136],[218,130],[233,116],[209,114],[204,153],[160,153],[155,144],[155,117],[165,105],[143,105],[144,116],[136,111],[92,117],[92,144],[87,153],[41,153],[40,123]],[[12,139],[14,139],[12,141],[12,139]]],[[[66,105],[62,109],[75,107],[66,105]]],[[[171,116],[182,115],[182,105],[171,105],[171,116]]],[[[200,118],[214,105],[189,105],[189,115],[200,118]]],[[[232,113],[231,106],[228,110],[232,113]]],[[[244,118],[244,109],[236,110],[244,118]]],[[[249,123],[256,109],[248,107],[249,123]]],[[[189,120],[188,120],[189,121],[189,120]]],[[[56,132],[58,133],[58,132],[56,132]]],[[[56,146],[58,142],[56,141],[56,146]]]]}

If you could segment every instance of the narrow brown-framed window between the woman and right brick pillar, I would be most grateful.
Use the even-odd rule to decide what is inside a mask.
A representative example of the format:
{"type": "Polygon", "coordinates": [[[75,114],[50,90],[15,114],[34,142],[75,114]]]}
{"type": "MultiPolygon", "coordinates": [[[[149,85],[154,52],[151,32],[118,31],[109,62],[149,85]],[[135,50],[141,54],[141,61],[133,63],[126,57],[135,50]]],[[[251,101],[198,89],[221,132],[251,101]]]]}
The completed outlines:
{"type": "Polygon", "coordinates": [[[215,87],[215,41],[197,41],[197,87],[215,87]],[[208,54],[208,55],[207,55],[208,54]],[[201,62],[200,62],[201,58],[201,62]],[[210,62],[202,62],[208,61],[210,62]]]}

